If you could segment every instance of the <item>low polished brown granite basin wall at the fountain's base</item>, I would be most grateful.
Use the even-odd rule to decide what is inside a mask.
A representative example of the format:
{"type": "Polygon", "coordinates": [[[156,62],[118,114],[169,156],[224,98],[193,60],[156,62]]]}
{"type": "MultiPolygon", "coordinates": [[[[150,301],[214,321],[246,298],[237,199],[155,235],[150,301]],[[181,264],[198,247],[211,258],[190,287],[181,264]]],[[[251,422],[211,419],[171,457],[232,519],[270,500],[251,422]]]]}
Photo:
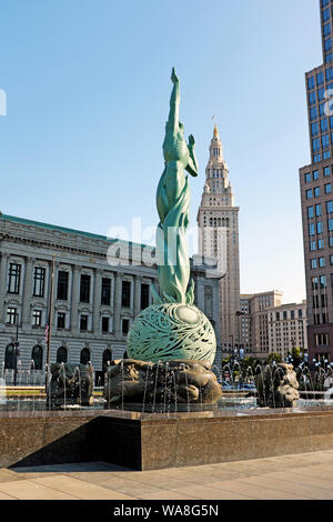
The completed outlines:
{"type": "Polygon", "coordinates": [[[331,449],[331,405],[167,414],[0,412],[0,468],[99,460],[154,470],[331,449]]]}

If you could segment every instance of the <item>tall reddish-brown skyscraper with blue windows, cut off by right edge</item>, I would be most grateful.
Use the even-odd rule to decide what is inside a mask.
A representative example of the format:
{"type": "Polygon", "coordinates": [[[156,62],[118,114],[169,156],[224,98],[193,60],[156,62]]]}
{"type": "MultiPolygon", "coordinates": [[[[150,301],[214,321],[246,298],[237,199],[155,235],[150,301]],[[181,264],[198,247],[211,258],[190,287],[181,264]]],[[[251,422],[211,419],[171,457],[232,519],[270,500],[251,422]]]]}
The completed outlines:
{"type": "Polygon", "coordinates": [[[305,73],[311,164],[300,169],[309,360],[324,364],[333,361],[332,11],[320,0],[323,64],[305,73]]]}

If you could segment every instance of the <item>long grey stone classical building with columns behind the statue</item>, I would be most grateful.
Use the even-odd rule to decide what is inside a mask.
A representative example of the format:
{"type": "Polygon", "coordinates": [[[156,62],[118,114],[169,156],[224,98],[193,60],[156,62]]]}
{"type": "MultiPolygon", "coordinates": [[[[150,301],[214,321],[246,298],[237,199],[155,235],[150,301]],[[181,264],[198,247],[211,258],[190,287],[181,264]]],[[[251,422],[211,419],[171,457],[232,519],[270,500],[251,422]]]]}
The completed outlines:
{"type": "MultiPolygon", "coordinates": [[[[44,367],[51,300],[50,362],[91,361],[102,371],[108,360],[123,355],[131,323],[151,303],[150,285],[158,287],[151,247],[3,214],[0,255],[2,372],[13,368],[17,334],[19,368],[44,367]],[[151,262],[142,264],[142,258],[151,262]]],[[[209,273],[202,263],[191,263],[195,302],[212,321],[220,347],[221,274],[216,262],[209,273]]],[[[212,260],[210,264],[214,264],[212,260]]]]}

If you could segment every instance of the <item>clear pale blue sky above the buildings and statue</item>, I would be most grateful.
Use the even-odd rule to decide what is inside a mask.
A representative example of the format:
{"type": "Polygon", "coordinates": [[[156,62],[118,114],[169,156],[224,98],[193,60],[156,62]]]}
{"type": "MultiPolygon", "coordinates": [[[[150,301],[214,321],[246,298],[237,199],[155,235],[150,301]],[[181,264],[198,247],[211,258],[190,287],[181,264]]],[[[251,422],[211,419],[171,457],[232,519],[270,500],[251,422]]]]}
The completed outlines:
{"type": "Polygon", "coordinates": [[[216,121],[240,207],[241,292],[305,298],[299,169],[319,0],[0,0],[0,50],[2,213],[154,230],[175,67],[200,164],[191,225],[216,121]]]}

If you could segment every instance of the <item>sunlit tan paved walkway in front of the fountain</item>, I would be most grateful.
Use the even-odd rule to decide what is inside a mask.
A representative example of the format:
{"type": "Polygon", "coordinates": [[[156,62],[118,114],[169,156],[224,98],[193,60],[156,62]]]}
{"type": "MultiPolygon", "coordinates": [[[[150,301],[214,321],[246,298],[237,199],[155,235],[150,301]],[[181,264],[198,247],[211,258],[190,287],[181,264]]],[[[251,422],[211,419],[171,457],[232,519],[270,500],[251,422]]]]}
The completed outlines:
{"type": "Polygon", "coordinates": [[[0,470],[0,500],[333,500],[333,450],[195,468],[103,462],[0,470]]]}

